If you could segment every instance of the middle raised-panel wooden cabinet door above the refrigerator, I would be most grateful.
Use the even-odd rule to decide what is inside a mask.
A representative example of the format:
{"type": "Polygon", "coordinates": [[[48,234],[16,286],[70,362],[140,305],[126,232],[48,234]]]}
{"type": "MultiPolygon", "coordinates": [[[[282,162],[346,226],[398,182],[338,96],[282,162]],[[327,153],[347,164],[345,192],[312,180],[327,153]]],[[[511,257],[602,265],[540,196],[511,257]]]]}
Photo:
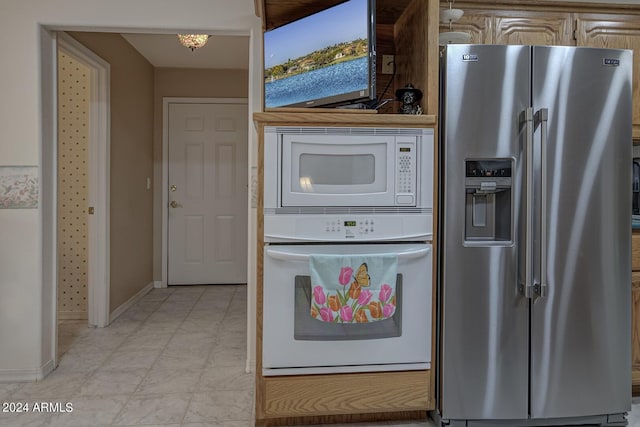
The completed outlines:
{"type": "Polygon", "coordinates": [[[513,11],[494,16],[495,44],[572,46],[570,13],[513,11]]]}

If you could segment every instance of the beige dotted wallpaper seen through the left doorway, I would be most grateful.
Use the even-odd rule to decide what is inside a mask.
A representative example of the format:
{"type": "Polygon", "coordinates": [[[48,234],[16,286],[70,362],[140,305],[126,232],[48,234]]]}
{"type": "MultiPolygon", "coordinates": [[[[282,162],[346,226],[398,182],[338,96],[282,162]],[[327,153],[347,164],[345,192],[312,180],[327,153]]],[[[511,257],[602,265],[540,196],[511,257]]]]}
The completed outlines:
{"type": "Polygon", "coordinates": [[[58,52],[58,317],[87,318],[90,70],[58,52]]]}

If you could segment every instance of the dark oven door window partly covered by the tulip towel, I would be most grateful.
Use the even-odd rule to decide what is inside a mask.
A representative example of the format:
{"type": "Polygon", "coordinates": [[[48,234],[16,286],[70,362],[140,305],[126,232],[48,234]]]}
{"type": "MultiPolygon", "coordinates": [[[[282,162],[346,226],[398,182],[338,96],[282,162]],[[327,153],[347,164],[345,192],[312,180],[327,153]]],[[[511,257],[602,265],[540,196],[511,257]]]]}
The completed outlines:
{"type": "Polygon", "coordinates": [[[309,314],[311,277],[295,276],[295,316],[293,338],[298,341],[353,341],[392,338],[402,335],[402,275],[396,276],[396,312],[392,317],[371,323],[329,323],[309,314]]]}

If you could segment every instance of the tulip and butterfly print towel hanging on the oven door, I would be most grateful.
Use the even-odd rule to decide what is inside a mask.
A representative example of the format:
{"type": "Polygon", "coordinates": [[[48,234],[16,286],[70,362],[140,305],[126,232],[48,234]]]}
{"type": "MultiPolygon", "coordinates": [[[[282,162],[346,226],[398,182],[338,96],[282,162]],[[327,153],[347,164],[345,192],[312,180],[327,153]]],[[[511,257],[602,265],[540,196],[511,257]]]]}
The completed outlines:
{"type": "Polygon", "coordinates": [[[367,323],[396,311],[396,255],[311,255],[311,317],[367,323]]]}

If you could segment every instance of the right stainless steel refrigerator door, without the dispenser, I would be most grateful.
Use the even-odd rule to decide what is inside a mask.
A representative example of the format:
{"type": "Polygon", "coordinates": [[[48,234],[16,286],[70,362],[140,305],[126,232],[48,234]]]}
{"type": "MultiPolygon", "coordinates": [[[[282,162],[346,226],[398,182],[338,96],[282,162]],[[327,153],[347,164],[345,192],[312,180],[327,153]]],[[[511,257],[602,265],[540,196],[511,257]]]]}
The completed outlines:
{"type": "Polygon", "coordinates": [[[626,412],[631,52],[535,47],[533,62],[534,111],[548,122],[534,138],[534,281],[546,296],[532,305],[531,417],[626,412]]]}

